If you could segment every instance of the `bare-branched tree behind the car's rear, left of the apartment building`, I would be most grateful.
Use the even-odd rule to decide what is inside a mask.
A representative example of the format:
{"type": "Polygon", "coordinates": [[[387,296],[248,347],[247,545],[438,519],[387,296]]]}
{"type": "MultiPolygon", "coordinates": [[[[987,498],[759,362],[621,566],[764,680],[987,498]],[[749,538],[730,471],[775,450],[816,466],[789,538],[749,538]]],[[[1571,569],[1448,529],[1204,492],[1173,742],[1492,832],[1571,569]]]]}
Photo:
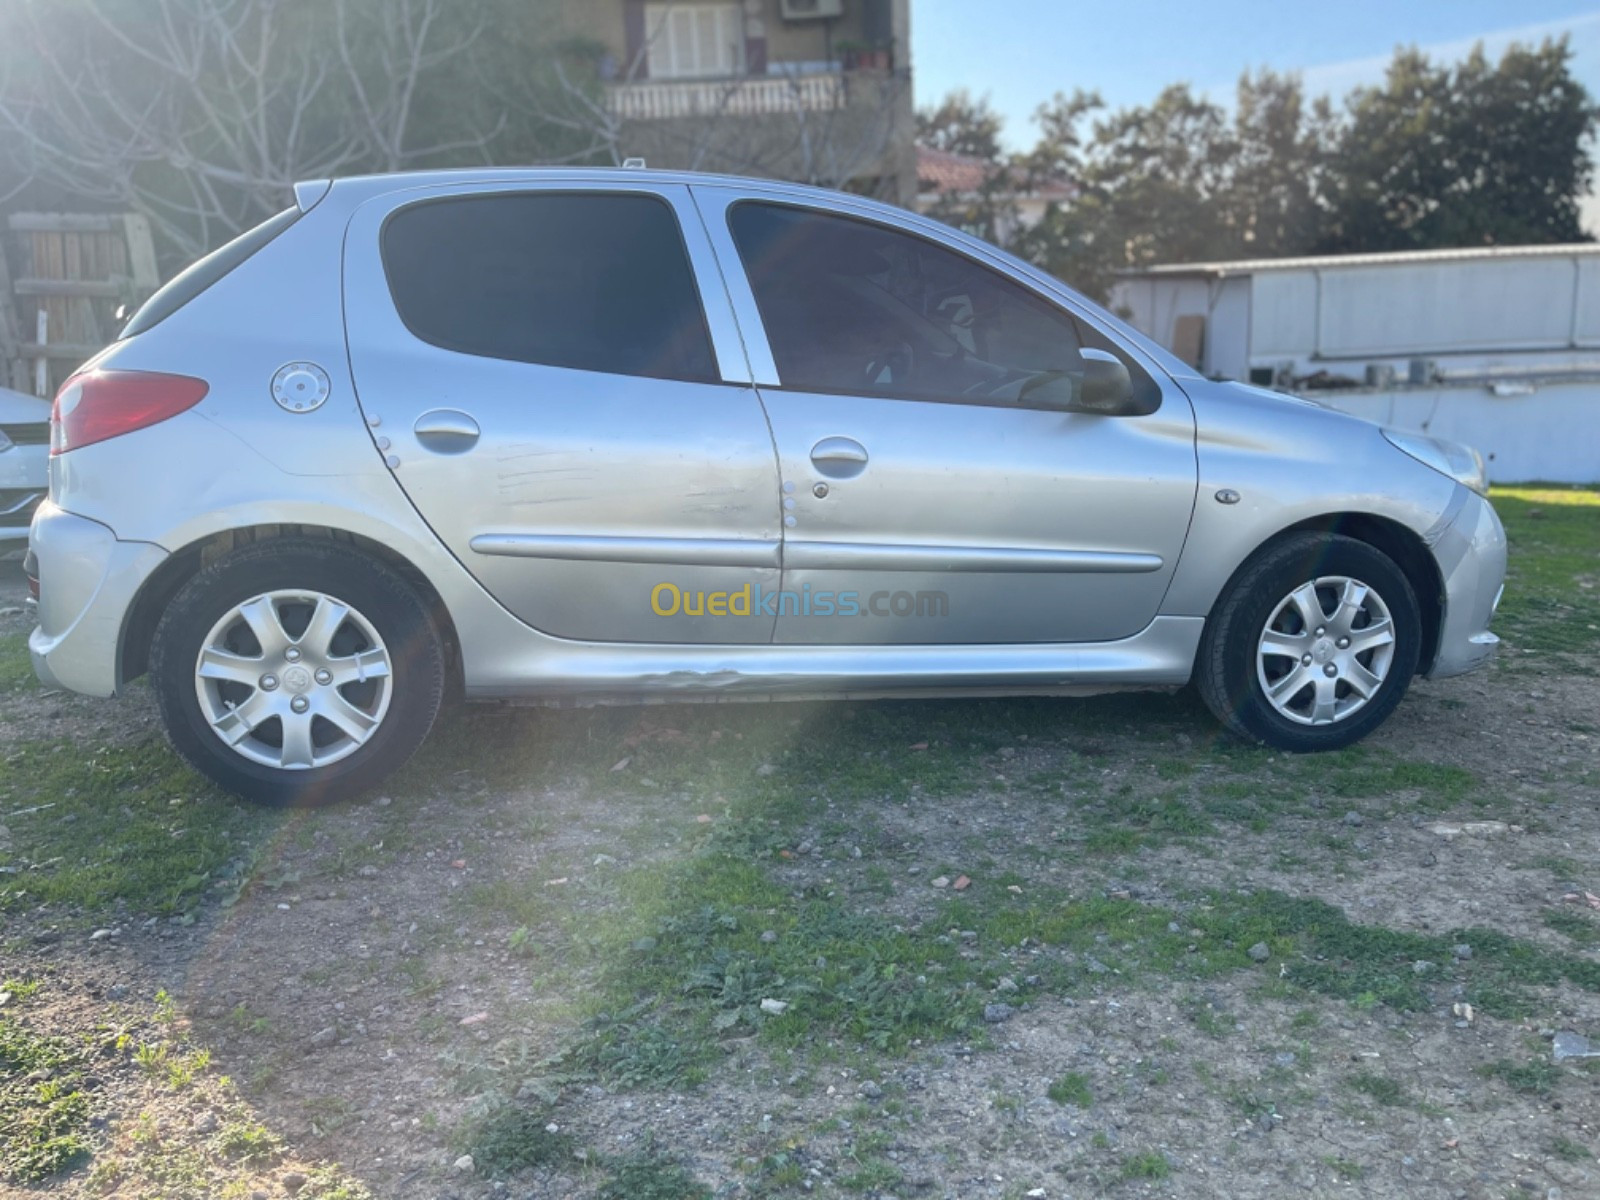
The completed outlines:
{"type": "Polygon", "coordinates": [[[450,0],[13,0],[0,142],[24,179],[144,213],[194,256],[298,179],[488,158],[504,112],[419,128],[483,34],[450,0]]]}

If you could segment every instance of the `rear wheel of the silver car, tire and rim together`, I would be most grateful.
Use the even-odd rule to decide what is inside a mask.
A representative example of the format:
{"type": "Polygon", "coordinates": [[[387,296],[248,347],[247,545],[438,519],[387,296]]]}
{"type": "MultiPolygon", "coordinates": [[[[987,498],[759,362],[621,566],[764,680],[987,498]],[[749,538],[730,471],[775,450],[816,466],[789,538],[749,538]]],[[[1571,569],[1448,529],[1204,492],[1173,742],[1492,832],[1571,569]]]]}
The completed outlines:
{"type": "Polygon", "coordinates": [[[445,691],[416,592],[341,542],[258,542],[190,579],[155,630],[168,736],[194,766],[266,805],[354,795],[405,763],[445,691]]]}

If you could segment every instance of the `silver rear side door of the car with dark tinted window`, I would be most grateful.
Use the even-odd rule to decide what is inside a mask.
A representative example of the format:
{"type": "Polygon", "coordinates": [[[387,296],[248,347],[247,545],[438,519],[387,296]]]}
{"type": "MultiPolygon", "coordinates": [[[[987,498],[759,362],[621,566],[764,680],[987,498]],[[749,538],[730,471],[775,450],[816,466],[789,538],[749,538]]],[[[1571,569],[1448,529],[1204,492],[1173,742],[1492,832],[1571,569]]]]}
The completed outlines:
{"type": "Polygon", "coordinates": [[[738,597],[779,579],[773,442],[686,189],[389,195],[344,269],[378,446],[506,608],[565,638],[770,640],[738,597]]]}

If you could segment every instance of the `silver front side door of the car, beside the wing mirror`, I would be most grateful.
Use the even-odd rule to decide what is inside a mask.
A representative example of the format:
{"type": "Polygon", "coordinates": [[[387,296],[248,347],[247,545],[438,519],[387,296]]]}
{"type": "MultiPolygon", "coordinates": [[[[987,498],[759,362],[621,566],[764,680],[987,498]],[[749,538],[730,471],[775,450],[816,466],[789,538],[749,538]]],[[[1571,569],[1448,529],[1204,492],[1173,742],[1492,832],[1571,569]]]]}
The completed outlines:
{"type": "MultiPolygon", "coordinates": [[[[1194,411],[1154,365],[931,232],[694,186],[784,488],[779,643],[1130,637],[1194,509],[1194,411]],[[1142,410],[1035,397],[1117,355],[1142,410]]],[[[909,218],[909,221],[915,221],[909,218]]]]}

